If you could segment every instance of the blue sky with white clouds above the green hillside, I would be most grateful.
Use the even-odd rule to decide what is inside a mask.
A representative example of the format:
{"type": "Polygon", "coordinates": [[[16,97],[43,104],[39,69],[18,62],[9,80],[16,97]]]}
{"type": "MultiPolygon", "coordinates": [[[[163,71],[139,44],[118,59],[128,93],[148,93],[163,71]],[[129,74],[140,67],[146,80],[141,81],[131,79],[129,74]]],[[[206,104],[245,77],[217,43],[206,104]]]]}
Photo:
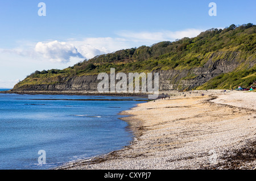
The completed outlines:
{"type": "Polygon", "coordinates": [[[256,24],[255,7],[255,0],[1,0],[0,87],[99,54],[256,24]]]}

